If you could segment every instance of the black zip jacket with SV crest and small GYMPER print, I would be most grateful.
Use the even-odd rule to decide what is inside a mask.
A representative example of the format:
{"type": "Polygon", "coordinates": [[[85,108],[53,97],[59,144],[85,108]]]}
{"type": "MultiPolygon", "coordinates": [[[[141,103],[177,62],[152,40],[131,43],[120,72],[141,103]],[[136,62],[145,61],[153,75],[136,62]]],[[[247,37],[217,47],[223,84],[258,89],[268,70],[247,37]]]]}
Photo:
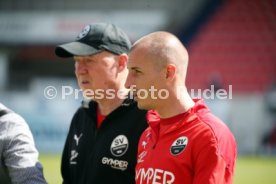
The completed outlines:
{"type": "Polygon", "coordinates": [[[78,109],[62,155],[63,183],[135,183],[137,147],[147,127],[146,111],[131,100],[111,112],[97,129],[97,104],[78,109]]]}

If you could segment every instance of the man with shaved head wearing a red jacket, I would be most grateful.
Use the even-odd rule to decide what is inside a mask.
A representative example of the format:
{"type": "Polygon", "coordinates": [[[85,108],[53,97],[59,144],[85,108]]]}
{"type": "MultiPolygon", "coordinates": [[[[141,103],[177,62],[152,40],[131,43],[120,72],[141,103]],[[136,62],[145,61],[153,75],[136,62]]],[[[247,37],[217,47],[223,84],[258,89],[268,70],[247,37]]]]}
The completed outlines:
{"type": "Polygon", "coordinates": [[[188,94],[188,53],[179,39],[168,32],[144,36],[127,65],[126,86],[138,107],[154,110],[139,142],[136,183],[233,183],[235,139],[202,99],[188,94]]]}

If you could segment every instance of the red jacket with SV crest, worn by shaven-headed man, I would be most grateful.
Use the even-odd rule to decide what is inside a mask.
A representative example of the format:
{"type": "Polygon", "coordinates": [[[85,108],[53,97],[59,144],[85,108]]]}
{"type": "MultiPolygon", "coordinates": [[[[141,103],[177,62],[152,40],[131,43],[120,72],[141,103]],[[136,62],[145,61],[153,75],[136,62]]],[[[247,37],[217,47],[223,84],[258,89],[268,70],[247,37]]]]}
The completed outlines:
{"type": "Polygon", "coordinates": [[[203,100],[190,110],[160,119],[150,111],[138,148],[136,184],[230,184],[237,147],[228,127],[203,100]]]}

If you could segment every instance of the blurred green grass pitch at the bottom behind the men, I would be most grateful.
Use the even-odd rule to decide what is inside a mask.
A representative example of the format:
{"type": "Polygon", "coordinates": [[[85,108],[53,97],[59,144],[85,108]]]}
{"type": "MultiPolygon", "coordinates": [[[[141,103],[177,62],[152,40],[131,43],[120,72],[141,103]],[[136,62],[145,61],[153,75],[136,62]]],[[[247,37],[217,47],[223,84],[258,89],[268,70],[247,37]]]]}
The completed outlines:
{"type": "MultiPolygon", "coordinates": [[[[61,184],[60,156],[41,155],[40,161],[49,184],[61,184]]],[[[234,184],[275,184],[276,157],[239,157],[234,184]]]]}

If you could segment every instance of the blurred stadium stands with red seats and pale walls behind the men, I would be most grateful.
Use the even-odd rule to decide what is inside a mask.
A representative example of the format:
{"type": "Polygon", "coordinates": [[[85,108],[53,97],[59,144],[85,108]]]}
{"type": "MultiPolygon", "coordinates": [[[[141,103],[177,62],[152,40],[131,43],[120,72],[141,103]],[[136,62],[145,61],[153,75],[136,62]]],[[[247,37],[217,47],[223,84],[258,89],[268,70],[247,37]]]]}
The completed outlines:
{"type": "Polygon", "coordinates": [[[73,61],[54,48],[93,22],[120,26],[132,42],[176,34],[190,54],[190,91],[213,85],[231,97],[206,101],[234,133],[239,156],[276,155],[275,0],[1,0],[0,101],[28,121],[42,155],[61,154],[82,100],[62,98],[62,86],[78,87],[73,61]],[[45,97],[47,86],[56,98],[45,97]]]}

